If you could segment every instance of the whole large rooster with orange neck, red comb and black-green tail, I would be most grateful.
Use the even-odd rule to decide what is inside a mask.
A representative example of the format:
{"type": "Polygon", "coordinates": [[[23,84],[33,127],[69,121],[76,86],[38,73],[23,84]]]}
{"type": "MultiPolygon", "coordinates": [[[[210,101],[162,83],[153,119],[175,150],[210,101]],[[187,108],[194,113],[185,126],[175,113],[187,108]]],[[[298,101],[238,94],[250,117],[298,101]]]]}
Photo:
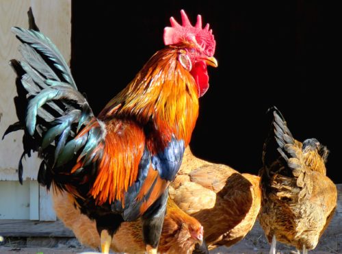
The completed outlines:
{"type": "Polygon", "coordinates": [[[70,193],[96,221],[104,253],[120,225],[137,218],[146,251],[157,252],[168,186],[191,139],[198,97],[209,88],[207,65],[218,65],[209,24],[202,29],[198,15],[192,26],[183,10],[181,17],[183,25],[170,18],[164,29],[166,47],[97,117],[51,40],[34,29],[12,28],[23,42],[23,60],[10,62],[18,75],[19,121],[5,134],[24,130],[19,181],[23,157],[38,151],[38,181],[70,193]]]}

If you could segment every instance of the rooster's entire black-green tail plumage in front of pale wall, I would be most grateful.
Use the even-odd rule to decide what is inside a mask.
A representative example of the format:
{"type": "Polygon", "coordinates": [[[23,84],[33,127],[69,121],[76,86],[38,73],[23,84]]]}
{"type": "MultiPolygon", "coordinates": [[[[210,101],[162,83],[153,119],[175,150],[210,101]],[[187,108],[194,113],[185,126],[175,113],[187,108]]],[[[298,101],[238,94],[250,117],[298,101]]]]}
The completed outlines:
{"type": "MultiPolygon", "coordinates": [[[[23,60],[10,61],[17,75],[14,103],[19,121],[10,125],[4,136],[24,130],[19,181],[23,181],[21,161],[31,151],[38,151],[43,159],[38,181],[49,188],[52,179],[58,178],[57,172],[70,173],[62,172],[61,166],[70,163],[72,168],[78,162],[75,177],[94,158],[101,157],[98,146],[103,143],[105,129],[77,90],[68,65],[51,40],[33,29],[13,27],[12,31],[23,42],[19,47],[23,60]]],[[[62,184],[62,179],[72,181],[66,176],[57,183],[62,184]]]]}

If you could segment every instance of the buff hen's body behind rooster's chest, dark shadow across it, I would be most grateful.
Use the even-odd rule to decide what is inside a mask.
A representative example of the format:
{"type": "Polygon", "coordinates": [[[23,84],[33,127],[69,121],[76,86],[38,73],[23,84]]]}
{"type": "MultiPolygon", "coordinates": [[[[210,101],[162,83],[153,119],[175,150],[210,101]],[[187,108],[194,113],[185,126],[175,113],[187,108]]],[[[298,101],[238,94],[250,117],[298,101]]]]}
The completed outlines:
{"type": "Polygon", "coordinates": [[[257,219],[259,177],[200,160],[187,148],[170,185],[170,198],[201,223],[209,250],[231,246],[246,236],[257,219]]]}

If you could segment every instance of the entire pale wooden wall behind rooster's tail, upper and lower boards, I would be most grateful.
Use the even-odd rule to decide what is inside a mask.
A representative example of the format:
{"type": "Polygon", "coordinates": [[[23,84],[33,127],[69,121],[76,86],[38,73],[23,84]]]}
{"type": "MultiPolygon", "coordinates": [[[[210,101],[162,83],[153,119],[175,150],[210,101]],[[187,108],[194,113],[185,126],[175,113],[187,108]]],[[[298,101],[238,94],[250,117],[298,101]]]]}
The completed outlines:
{"type": "MultiPolygon", "coordinates": [[[[8,61],[21,59],[19,42],[11,33],[13,26],[28,27],[31,6],[36,23],[70,62],[71,0],[1,0],[0,1],[0,136],[16,118],[13,98],[16,75],[8,61]]],[[[0,219],[55,220],[52,201],[36,176],[39,160],[31,157],[24,164],[24,183],[18,183],[18,160],[23,152],[23,133],[9,134],[0,140],[0,219]]]]}

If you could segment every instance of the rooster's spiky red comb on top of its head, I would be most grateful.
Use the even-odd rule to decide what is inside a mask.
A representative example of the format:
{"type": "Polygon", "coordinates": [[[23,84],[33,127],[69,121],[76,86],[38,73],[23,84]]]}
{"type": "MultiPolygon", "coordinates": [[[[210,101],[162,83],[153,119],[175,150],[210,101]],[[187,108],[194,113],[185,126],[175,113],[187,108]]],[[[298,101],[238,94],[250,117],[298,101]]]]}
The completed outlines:
{"type": "Polygon", "coordinates": [[[171,27],[164,28],[164,44],[174,45],[183,41],[195,42],[206,55],[213,56],[216,42],[213,31],[209,30],[209,24],[202,29],[202,17],[198,15],[196,25],[193,27],[184,10],[181,10],[181,16],[182,25],[179,25],[173,17],[170,18],[171,27]]]}

